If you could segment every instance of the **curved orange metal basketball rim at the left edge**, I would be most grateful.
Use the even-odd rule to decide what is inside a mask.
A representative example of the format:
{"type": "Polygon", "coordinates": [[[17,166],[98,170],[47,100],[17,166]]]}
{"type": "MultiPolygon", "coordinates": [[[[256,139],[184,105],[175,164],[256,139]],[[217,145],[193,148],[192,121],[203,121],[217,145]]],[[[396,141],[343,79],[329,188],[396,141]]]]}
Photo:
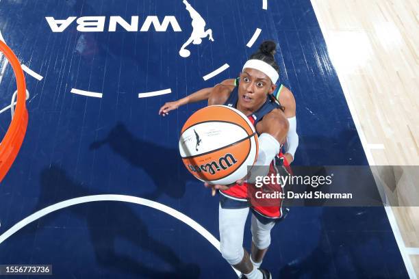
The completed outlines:
{"type": "Polygon", "coordinates": [[[8,131],[6,132],[3,140],[0,143],[0,182],[8,173],[14,159],[21,149],[23,139],[27,129],[27,109],[26,109],[26,83],[25,76],[19,60],[13,51],[0,40],[0,51],[9,60],[16,77],[17,85],[17,103],[14,110],[14,116],[8,131]]]}

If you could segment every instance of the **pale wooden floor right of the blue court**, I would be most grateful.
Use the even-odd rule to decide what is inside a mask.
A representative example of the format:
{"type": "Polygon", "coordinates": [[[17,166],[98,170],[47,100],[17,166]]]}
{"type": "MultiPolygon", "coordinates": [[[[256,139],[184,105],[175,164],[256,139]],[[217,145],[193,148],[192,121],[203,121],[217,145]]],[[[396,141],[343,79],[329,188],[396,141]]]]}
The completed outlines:
{"type": "MultiPolygon", "coordinates": [[[[403,166],[419,165],[419,1],[312,0],[312,4],[370,165],[400,165],[403,173],[411,173],[413,167],[403,166]]],[[[390,220],[396,219],[392,227],[415,278],[419,179],[410,180],[398,185],[396,197],[386,192],[392,205],[396,201],[409,206],[387,211],[390,220]]]]}

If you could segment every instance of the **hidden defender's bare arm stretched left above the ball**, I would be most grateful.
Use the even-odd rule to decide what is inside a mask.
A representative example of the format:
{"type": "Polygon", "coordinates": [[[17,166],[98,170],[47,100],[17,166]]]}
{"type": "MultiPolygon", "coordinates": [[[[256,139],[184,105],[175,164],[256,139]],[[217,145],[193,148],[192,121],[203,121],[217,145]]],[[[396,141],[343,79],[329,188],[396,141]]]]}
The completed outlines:
{"type": "Polygon", "coordinates": [[[177,101],[167,102],[164,105],[162,105],[162,107],[160,107],[159,114],[161,116],[166,116],[168,115],[169,111],[172,111],[173,109],[178,109],[182,105],[207,100],[208,98],[210,98],[212,90],[214,90],[214,88],[216,88],[218,85],[225,85],[227,87],[233,88],[235,86],[234,81],[235,79],[226,79],[222,83],[215,85],[213,88],[203,88],[177,101]]]}

